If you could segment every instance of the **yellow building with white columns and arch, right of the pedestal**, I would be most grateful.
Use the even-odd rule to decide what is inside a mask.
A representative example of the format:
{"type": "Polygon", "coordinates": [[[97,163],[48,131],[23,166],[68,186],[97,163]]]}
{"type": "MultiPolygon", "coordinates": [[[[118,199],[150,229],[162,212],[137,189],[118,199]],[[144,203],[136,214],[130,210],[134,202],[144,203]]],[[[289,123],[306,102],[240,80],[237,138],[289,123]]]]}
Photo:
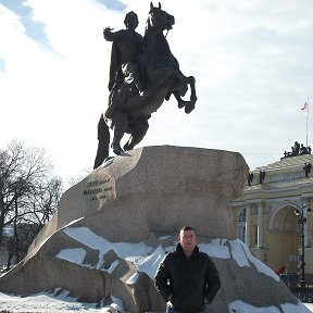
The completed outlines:
{"type": "Polygon", "coordinates": [[[306,277],[313,275],[311,164],[313,155],[305,154],[256,167],[243,196],[229,203],[237,237],[274,271],[284,266],[287,273],[299,273],[303,241],[306,277]]]}

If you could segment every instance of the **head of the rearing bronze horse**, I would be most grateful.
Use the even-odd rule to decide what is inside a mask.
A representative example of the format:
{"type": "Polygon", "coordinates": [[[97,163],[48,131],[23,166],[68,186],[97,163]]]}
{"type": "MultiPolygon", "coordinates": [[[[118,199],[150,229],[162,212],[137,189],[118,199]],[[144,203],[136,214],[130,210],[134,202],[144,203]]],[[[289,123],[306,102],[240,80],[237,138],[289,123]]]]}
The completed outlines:
{"type": "Polygon", "coordinates": [[[147,24],[148,27],[153,28],[154,32],[170,30],[175,24],[175,18],[161,9],[160,2],[159,7],[153,7],[151,2],[147,24]]]}

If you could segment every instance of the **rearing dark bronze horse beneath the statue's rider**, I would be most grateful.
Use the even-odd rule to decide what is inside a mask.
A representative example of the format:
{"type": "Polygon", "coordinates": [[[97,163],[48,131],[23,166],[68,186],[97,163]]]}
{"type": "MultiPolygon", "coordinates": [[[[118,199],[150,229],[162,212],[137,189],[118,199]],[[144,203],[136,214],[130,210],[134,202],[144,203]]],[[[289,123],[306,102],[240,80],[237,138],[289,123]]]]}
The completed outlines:
{"type": "MultiPolygon", "coordinates": [[[[114,107],[118,108],[111,118],[111,128],[114,130],[112,149],[115,154],[121,154],[124,150],[132,150],[145,137],[149,124],[148,120],[164,102],[174,95],[178,102],[178,108],[185,108],[189,114],[197,101],[195,77],[186,77],[179,70],[176,58],[172,54],[164,30],[172,29],[175,24],[173,15],[170,15],[159,7],[150,4],[147,26],[143,36],[143,53],[138,63],[145,80],[149,96],[145,99],[139,97],[138,90],[132,84],[124,80],[116,86],[116,90],[111,93],[110,99],[114,107]],[[181,99],[190,86],[190,100],[181,99]],[[124,134],[130,134],[129,140],[121,148],[121,140],[124,134]]],[[[107,118],[107,122],[110,122],[107,118]]],[[[109,156],[110,132],[103,115],[98,124],[98,151],[93,168],[100,166],[104,159],[109,156]]]]}

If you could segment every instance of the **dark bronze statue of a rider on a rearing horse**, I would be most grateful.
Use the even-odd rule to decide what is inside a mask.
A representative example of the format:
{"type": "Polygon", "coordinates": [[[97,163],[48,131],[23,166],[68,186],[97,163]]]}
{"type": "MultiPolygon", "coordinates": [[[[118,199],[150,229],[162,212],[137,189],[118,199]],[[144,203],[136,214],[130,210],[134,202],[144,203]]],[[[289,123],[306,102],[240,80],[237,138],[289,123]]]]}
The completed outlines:
{"type": "MultiPolygon", "coordinates": [[[[178,108],[189,114],[197,101],[195,77],[186,77],[179,63],[172,54],[164,30],[172,29],[175,18],[162,10],[161,4],[150,4],[143,38],[136,33],[138,17],[134,12],[125,16],[126,29],[112,32],[104,28],[103,36],[112,41],[109,103],[100,117],[98,127],[98,152],[93,168],[99,167],[109,156],[109,126],[113,129],[111,147],[115,154],[132,150],[145,137],[148,120],[174,95],[178,108]],[[190,99],[181,99],[190,87],[190,99]],[[109,126],[108,126],[109,125],[109,126]],[[108,129],[104,129],[104,128],[108,129]],[[100,133],[105,133],[105,135],[100,133]],[[129,140],[121,148],[125,134],[129,140]],[[104,147],[105,146],[105,147],[104,147]]],[[[167,35],[167,34],[166,34],[167,35]]]]}

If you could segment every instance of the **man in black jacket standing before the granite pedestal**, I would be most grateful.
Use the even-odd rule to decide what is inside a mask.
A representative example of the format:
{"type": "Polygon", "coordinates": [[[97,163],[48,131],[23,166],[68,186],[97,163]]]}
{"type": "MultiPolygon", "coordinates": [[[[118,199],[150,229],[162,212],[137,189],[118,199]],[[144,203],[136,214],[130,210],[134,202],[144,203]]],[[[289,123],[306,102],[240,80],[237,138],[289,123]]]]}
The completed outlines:
{"type": "Polygon", "coordinates": [[[199,251],[195,229],[180,229],[176,251],[165,255],[154,285],[167,302],[166,313],[205,313],[215,298],[220,275],[211,258],[199,251]]]}

